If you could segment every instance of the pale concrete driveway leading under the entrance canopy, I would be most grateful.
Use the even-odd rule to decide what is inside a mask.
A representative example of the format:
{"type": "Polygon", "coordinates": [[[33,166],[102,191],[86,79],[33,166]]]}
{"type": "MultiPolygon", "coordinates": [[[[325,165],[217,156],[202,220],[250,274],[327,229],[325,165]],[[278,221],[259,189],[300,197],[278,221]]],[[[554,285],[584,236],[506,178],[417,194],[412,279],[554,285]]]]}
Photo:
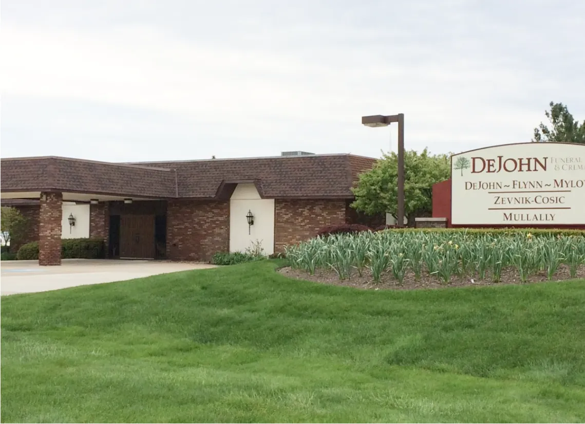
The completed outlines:
{"type": "Polygon", "coordinates": [[[64,259],[61,266],[37,261],[2,261],[0,294],[47,292],[87,284],[111,283],[168,272],[214,268],[214,265],[113,259],[64,259]]]}

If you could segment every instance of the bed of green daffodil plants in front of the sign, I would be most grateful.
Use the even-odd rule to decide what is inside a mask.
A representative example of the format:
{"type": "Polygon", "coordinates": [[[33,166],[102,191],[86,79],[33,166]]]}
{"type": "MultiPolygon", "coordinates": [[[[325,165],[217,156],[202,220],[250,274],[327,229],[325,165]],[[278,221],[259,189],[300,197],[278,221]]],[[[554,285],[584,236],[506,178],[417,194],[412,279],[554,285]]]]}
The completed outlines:
{"type": "Polygon", "coordinates": [[[317,237],[286,256],[298,276],[374,286],[552,281],[581,275],[585,232],[364,231],[317,237]]]}

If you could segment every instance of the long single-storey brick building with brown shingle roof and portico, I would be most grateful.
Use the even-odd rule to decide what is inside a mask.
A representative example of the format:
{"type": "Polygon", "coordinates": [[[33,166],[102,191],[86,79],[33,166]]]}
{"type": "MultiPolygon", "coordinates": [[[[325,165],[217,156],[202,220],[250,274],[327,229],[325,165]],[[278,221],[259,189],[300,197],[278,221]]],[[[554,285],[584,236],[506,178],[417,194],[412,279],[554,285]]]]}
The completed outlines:
{"type": "Polygon", "coordinates": [[[41,265],[60,264],[69,210],[78,220],[87,210],[81,237],[104,239],[110,258],[208,261],[254,244],[280,252],[325,225],[383,225],[386,217],[349,207],[357,176],[374,162],[312,154],[156,163],[9,158],[0,191],[3,205],[29,218],[19,242],[39,241],[41,265]]]}

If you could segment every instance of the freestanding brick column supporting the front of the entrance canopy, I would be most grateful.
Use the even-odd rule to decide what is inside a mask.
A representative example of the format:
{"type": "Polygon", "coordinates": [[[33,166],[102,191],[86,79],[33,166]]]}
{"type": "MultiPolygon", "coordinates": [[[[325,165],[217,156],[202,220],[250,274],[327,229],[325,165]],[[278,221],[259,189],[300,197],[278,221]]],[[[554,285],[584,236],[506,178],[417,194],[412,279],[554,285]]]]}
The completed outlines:
{"type": "Polygon", "coordinates": [[[61,265],[63,193],[40,194],[39,265],[61,265]]]}

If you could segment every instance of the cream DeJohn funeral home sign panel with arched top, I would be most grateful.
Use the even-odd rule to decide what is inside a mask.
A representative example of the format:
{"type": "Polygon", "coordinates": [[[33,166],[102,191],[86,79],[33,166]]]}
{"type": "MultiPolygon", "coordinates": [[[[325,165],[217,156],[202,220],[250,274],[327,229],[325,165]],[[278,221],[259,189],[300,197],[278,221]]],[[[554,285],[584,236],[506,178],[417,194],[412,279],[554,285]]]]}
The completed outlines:
{"type": "Polygon", "coordinates": [[[487,147],[451,168],[452,225],[585,225],[585,145],[487,147]]]}

